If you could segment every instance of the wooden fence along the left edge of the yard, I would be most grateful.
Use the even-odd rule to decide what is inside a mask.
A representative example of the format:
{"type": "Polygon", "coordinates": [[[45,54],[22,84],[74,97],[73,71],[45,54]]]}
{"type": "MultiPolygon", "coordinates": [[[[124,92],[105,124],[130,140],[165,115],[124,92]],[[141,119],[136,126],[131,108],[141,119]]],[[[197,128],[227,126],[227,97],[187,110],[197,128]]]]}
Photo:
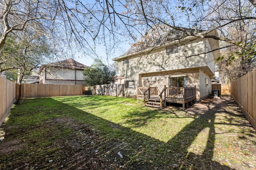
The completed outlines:
{"type": "Polygon", "coordinates": [[[0,76],[0,125],[15,102],[15,83],[0,76]]]}

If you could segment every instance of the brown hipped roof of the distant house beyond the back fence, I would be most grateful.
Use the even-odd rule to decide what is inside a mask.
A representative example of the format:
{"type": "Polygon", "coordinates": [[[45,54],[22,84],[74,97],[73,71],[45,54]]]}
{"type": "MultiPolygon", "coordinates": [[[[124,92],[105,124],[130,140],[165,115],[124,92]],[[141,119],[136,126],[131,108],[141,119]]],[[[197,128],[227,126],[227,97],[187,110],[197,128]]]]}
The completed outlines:
{"type": "Polygon", "coordinates": [[[79,63],[73,59],[67,59],[63,61],[58,61],[50,64],[44,64],[40,67],[40,70],[38,74],[42,71],[43,68],[45,67],[58,67],[58,68],[66,68],[66,69],[72,69],[72,70],[84,70],[84,68],[88,67],[82,63],[79,63]]]}

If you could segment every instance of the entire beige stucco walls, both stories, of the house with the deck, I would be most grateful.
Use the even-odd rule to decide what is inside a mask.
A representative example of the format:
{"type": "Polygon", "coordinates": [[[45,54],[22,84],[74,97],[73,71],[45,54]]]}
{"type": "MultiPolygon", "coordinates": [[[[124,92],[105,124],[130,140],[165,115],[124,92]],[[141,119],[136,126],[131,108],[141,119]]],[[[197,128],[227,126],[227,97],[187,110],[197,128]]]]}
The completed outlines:
{"type": "MultiPolygon", "coordinates": [[[[197,100],[209,96],[211,92],[210,77],[214,76],[214,53],[208,39],[196,39],[177,44],[175,54],[166,54],[166,47],[152,49],[150,53],[140,53],[129,57],[129,64],[118,59],[118,75],[125,80],[134,80],[137,86],[157,86],[161,91],[164,85],[169,86],[169,76],[185,74],[188,87],[196,86],[197,100]],[[205,84],[208,79],[208,86],[205,84]]],[[[124,89],[125,96],[136,96],[137,89],[124,89]]]]}

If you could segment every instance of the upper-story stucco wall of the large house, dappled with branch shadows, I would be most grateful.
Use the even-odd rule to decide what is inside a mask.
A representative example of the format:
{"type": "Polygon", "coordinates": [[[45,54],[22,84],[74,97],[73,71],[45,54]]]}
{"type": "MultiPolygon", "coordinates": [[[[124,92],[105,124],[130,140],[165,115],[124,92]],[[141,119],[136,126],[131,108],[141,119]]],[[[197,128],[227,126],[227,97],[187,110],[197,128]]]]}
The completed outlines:
{"type": "Polygon", "coordinates": [[[208,74],[214,75],[214,59],[207,54],[207,39],[203,41],[194,40],[180,45],[179,52],[172,55],[166,54],[166,47],[154,49],[149,54],[144,53],[129,57],[129,64],[123,64],[118,60],[118,75],[130,76],[164,70],[178,70],[184,68],[211,67],[208,74]],[[200,55],[198,55],[200,54],[200,55]],[[213,70],[213,71],[212,71],[213,70]]]}

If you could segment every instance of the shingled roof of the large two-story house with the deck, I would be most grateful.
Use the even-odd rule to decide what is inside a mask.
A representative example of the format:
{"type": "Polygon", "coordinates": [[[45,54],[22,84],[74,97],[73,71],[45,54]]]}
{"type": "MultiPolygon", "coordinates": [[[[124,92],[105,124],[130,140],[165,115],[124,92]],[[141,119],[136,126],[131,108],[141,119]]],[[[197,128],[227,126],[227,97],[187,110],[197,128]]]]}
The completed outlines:
{"type": "MultiPolygon", "coordinates": [[[[184,27],[177,28],[186,31],[187,33],[194,33],[195,31],[198,31],[196,29],[184,27]]],[[[155,25],[151,29],[149,29],[149,31],[145,35],[143,35],[138,42],[134,43],[134,45],[132,45],[132,47],[122,56],[130,55],[132,53],[136,53],[138,51],[142,51],[148,48],[157,47],[170,41],[182,39],[187,35],[184,31],[181,30],[168,27],[168,25],[164,24],[155,25]]],[[[202,30],[199,31],[201,32],[202,30]]]]}

